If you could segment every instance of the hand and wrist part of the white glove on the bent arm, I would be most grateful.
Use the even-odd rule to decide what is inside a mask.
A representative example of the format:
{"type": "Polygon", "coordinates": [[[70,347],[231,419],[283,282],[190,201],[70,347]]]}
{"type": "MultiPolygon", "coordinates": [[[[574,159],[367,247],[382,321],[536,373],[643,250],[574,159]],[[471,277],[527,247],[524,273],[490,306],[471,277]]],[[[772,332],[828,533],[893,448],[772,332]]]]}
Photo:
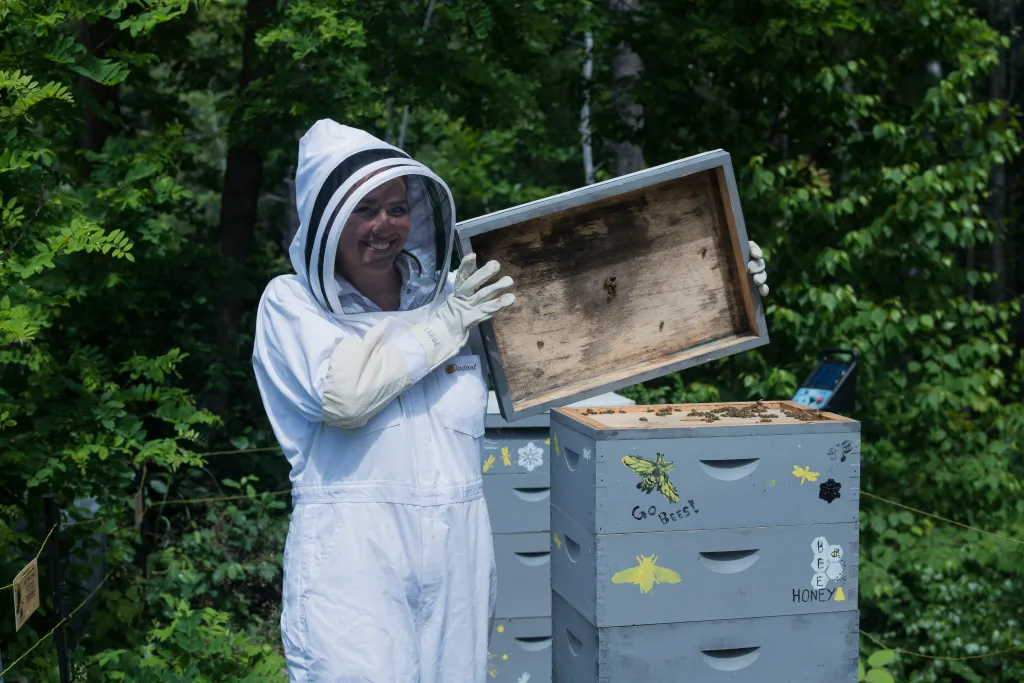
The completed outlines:
{"type": "Polygon", "coordinates": [[[488,261],[477,270],[476,254],[463,258],[455,274],[455,292],[426,325],[412,330],[427,350],[430,370],[458,353],[469,341],[473,328],[515,303],[515,296],[502,294],[512,287],[508,275],[483,287],[500,269],[498,261],[488,261]]]}

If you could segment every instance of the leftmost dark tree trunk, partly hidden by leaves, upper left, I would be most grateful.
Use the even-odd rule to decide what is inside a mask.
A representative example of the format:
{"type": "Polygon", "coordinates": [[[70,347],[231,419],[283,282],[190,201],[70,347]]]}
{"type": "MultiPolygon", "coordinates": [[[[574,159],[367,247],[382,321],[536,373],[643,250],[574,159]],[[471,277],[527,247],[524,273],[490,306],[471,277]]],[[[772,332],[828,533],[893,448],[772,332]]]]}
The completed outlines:
{"type": "MultiPolygon", "coordinates": [[[[78,25],[78,42],[86,52],[103,59],[106,53],[117,48],[117,27],[114,22],[101,17],[95,24],[80,22],[78,25]]],[[[82,108],[82,148],[99,153],[103,150],[106,138],[114,135],[117,128],[113,119],[118,115],[119,93],[117,86],[100,85],[85,78],[78,79],[83,94],[82,108]]],[[[82,161],[82,171],[86,176],[92,171],[89,160],[82,161]]]]}

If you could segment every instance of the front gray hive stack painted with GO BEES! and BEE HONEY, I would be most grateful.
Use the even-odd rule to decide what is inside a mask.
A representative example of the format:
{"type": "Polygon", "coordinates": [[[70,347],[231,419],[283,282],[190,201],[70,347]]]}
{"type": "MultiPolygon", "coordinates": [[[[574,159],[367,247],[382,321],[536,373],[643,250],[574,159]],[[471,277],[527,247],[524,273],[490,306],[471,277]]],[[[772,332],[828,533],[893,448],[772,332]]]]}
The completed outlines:
{"type": "Polygon", "coordinates": [[[792,402],[551,413],[554,680],[857,680],[860,426],[792,402]]]}

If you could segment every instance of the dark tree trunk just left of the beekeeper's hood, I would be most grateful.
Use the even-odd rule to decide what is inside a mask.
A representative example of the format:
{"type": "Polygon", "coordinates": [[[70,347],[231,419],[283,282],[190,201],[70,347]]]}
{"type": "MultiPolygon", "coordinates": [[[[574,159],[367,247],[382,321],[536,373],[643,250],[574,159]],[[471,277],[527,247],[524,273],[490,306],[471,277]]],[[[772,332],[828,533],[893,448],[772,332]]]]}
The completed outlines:
{"type": "MultiPolygon", "coordinates": [[[[224,256],[224,289],[217,306],[217,348],[224,367],[239,357],[238,339],[244,312],[244,266],[253,251],[257,208],[263,184],[264,148],[258,125],[246,122],[246,109],[253,84],[265,78],[267,65],[256,46],[256,34],[267,26],[275,3],[249,0],[246,3],[246,27],[242,39],[242,70],[237,97],[239,105],[229,122],[231,137],[224,167],[220,197],[220,252],[224,256]]],[[[229,380],[210,397],[210,409],[223,413],[230,400],[229,380]]]]}

